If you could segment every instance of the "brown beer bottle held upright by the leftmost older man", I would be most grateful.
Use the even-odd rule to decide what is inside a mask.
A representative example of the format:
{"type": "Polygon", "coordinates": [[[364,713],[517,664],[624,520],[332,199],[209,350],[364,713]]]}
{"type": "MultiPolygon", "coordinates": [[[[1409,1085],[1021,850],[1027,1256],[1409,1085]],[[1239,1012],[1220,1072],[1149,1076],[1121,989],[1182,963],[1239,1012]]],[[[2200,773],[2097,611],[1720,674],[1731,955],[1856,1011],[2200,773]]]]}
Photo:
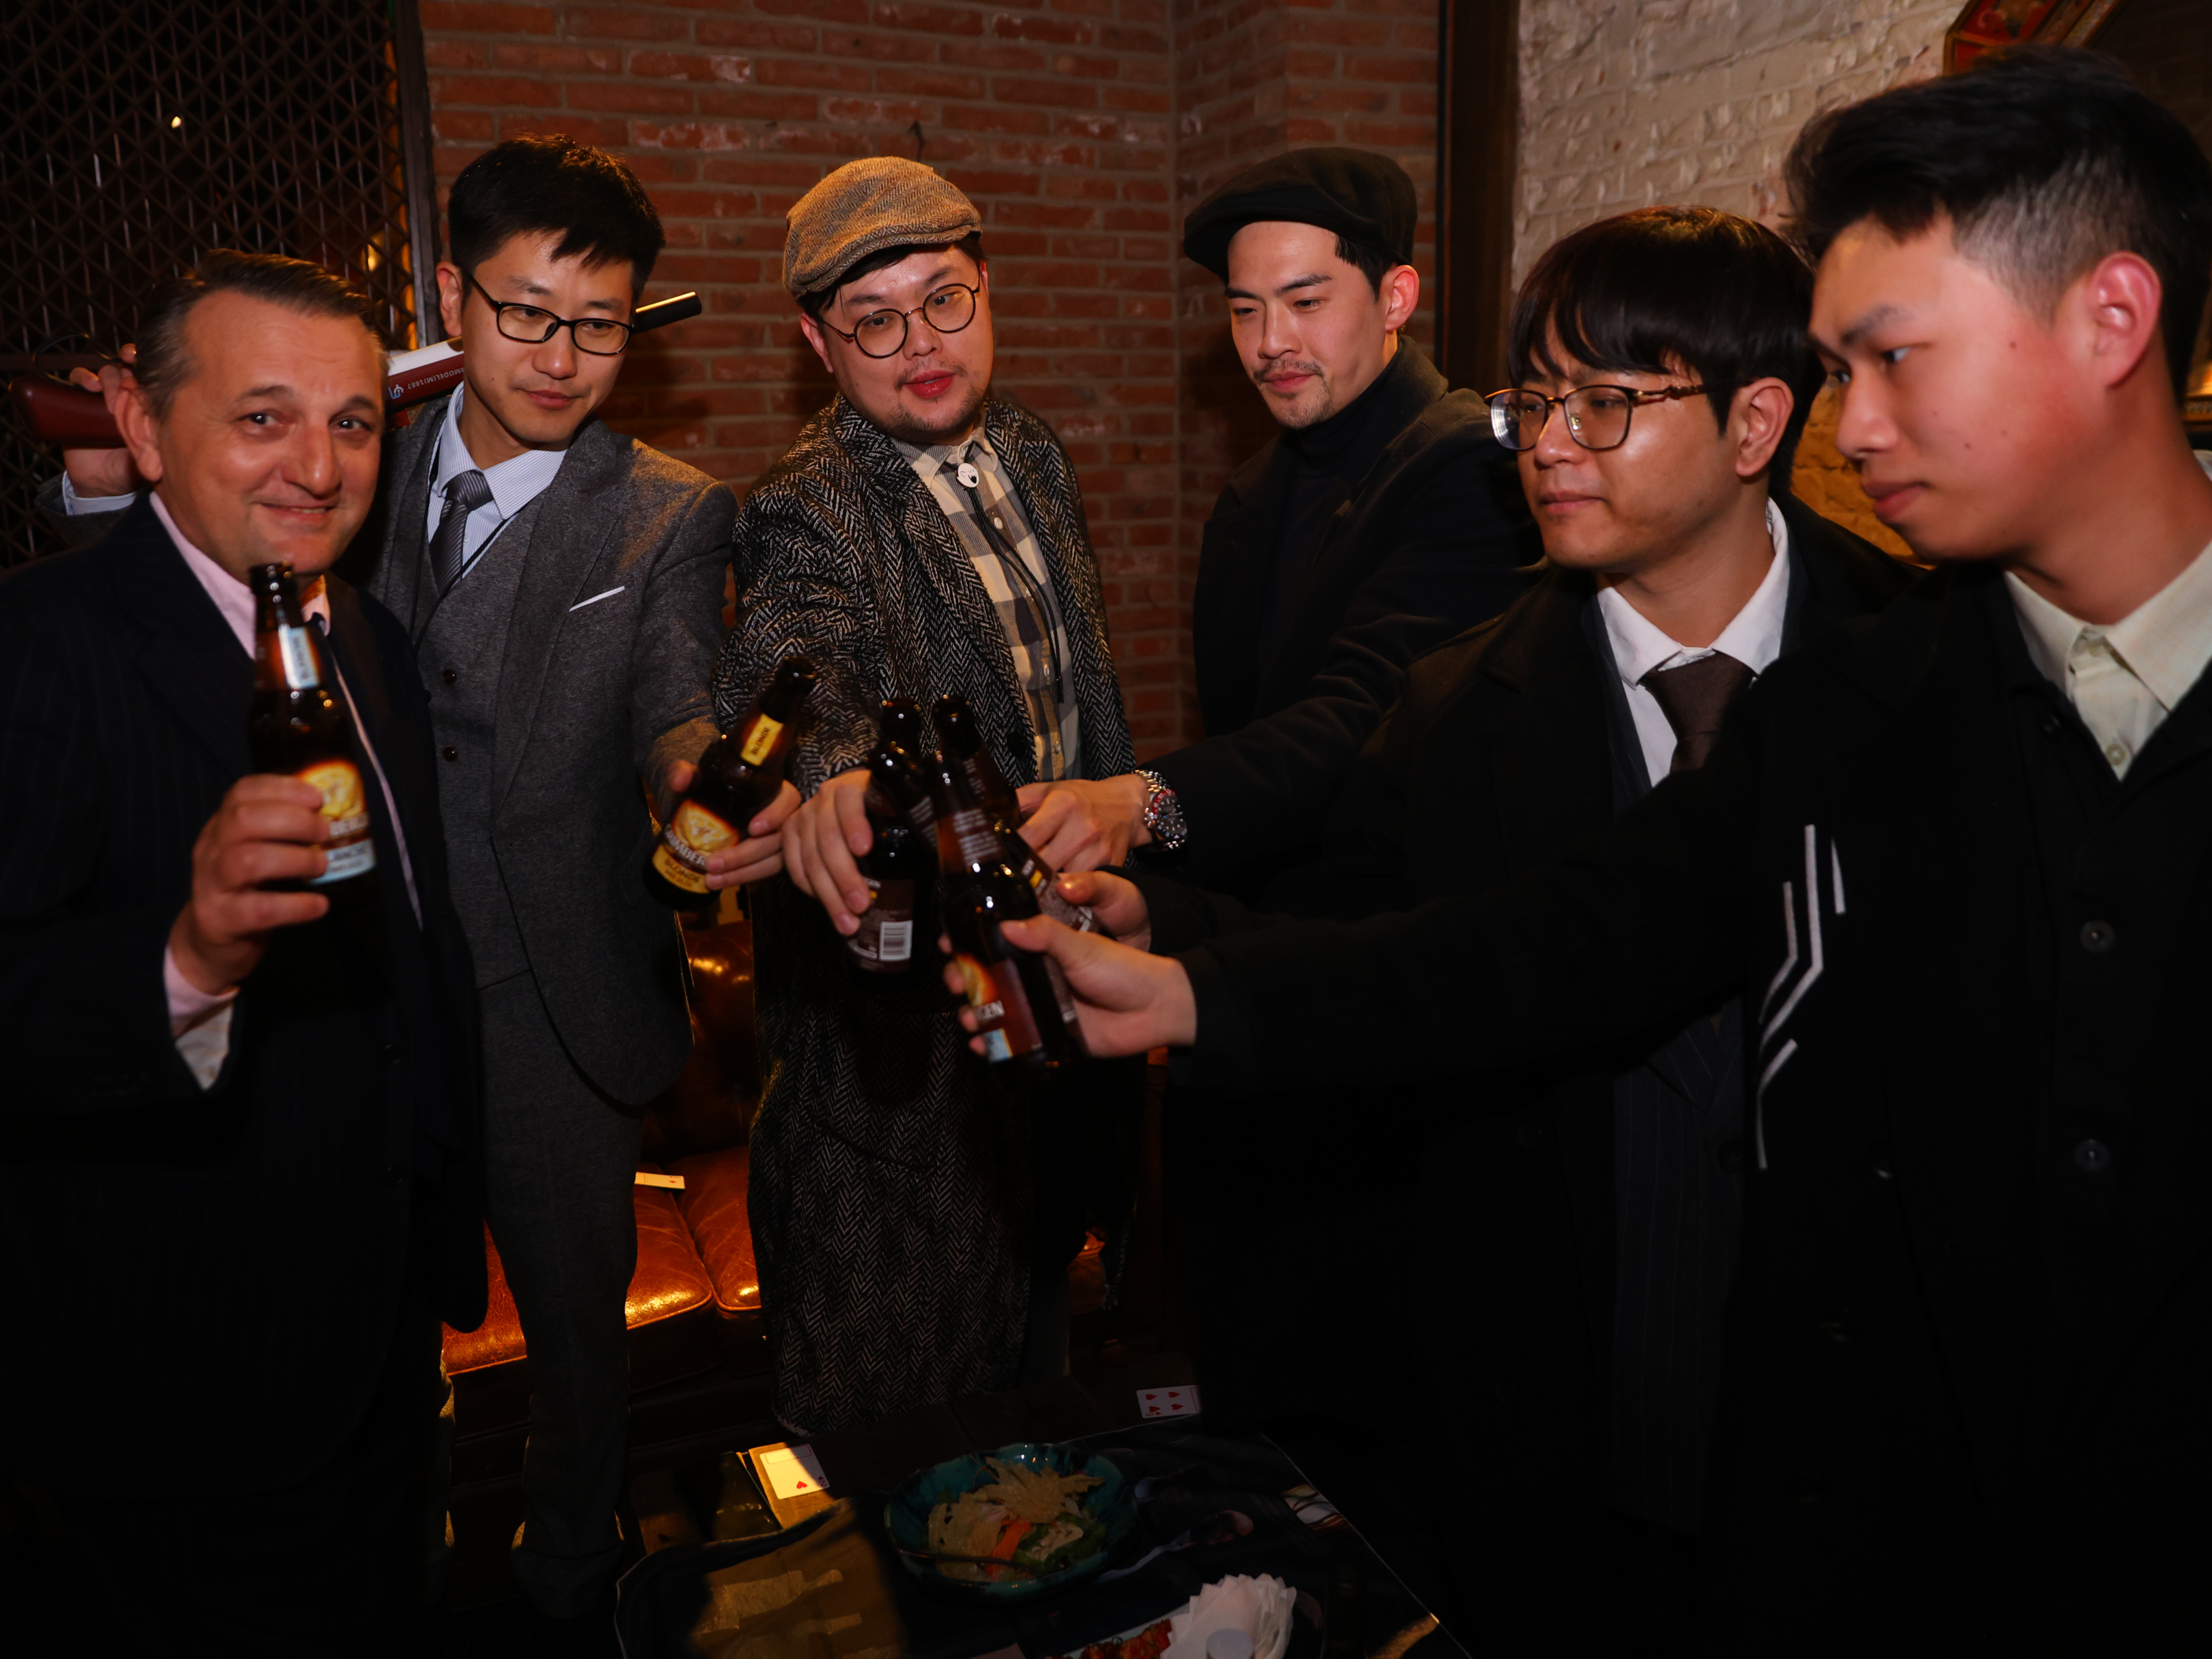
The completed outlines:
{"type": "Polygon", "coordinates": [[[299,582],[290,564],[252,566],[254,591],[254,701],[246,717],[246,741],[257,772],[312,783],[323,792],[330,821],[330,858],[321,876],[279,887],[330,894],[332,902],[365,896],[376,872],[376,838],[369,834],[369,792],[354,748],[354,719],[334,695],[323,641],[299,608],[299,582]]]}

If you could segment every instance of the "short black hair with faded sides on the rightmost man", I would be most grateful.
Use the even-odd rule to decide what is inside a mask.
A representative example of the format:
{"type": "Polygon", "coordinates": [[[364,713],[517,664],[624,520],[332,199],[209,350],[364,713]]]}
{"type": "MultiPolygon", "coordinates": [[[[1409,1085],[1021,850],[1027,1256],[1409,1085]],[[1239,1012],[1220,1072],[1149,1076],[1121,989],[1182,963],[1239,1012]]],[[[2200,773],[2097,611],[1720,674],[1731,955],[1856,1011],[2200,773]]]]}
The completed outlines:
{"type": "Polygon", "coordinates": [[[1812,259],[1860,219],[1913,237],[1949,217],[1960,252],[2046,314],[2106,254],[2141,254],[2166,285],[2174,396],[2188,389],[2212,288],[2212,164],[2110,58],[2008,46],[1829,111],[1798,135],[1787,179],[1812,259]]]}

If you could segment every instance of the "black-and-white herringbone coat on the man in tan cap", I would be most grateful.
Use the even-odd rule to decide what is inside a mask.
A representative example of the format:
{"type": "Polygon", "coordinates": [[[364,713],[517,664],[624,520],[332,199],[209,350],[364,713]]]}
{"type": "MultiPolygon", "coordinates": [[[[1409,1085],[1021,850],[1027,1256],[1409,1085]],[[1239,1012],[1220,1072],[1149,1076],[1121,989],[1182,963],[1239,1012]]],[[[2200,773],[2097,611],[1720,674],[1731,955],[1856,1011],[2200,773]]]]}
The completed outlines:
{"type": "MultiPolygon", "coordinates": [[[[1060,599],[1082,774],[1135,763],[1075,469],[1051,429],[991,398],[998,451],[1060,599]]],[[[761,476],[737,520],[737,626],[714,670],[732,726],[794,653],[818,668],[792,781],[867,761],[885,697],[960,692],[1000,768],[1033,776],[1033,730],[998,611],[905,456],[838,398],[761,476]]],[[[752,896],[765,1091],[752,1230],[776,1413],[803,1433],[1006,1387],[1022,1356],[1035,1214],[1026,1115],[951,1020],[933,951],[885,984],[845,962],[787,880],[752,896]]]]}

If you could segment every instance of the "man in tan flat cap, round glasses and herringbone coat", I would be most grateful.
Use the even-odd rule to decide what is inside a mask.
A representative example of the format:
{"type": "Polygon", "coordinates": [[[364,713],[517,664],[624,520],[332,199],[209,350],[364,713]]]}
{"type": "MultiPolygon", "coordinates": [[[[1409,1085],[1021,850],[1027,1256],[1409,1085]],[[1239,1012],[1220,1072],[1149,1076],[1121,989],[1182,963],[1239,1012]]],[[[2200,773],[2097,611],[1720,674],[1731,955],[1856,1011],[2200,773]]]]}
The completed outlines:
{"type": "Polygon", "coordinates": [[[1031,1124],[967,1051],[933,971],[845,960],[887,697],[964,697],[1013,783],[1133,761],[1075,469],[991,394],[980,228],[953,184],[902,157],[852,161],[792,208],[783,283],[838,394],[737,520],[717,714],[734,723],[787,655],[818,668],[794,787],[712,860],[717,885],[759,883],[750,1212],[776,1416],[803,1433],[1060,1374],[1093,1172],[1068,1137],[1093,1091],[1133,1082],[1095,1068],[1031,1124]],[[790,880],[768,880],[779,869],[790,880]]]}

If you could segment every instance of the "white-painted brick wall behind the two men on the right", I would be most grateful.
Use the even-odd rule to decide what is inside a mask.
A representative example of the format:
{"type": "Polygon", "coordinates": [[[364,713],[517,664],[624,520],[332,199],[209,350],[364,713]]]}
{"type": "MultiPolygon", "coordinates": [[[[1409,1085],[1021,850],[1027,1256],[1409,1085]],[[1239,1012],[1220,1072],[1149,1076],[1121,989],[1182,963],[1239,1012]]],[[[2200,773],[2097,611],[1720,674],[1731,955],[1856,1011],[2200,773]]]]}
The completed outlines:
{"type": "MultiPolygon", "coordinates": [[[[1955,0],[1522,0],[1513,279],[1568,230],[1657,201],[1778,223],[1805,119],[1942,69],[1955,0]]],[[[1834,394],[1805,429],[1798,493],[1893,553],[1836,453],[1834,394]]]]}

